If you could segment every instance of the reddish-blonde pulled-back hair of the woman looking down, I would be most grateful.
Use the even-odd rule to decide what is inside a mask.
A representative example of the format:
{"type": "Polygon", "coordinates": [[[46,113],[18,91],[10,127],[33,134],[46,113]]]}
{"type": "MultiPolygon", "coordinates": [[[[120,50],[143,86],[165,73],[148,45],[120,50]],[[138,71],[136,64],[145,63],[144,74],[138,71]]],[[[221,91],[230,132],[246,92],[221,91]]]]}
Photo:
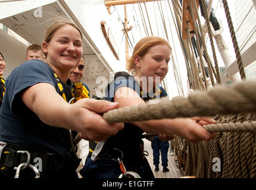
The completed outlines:
{"type": "Polygon", "coordinates": [[[127,70],[129,72],[135,72],[136,71],[136,65],[135,65],[135,56],[143,57],[146,53],[148,53],[149,49],[153,46],[157,45],[167,45],[170,48],[170,44],[163,38],[158,36],[147,36],[143,37],[139,42],[136,44],[136,46],[133,49],[132,57],[127,61],[127,70]]]}

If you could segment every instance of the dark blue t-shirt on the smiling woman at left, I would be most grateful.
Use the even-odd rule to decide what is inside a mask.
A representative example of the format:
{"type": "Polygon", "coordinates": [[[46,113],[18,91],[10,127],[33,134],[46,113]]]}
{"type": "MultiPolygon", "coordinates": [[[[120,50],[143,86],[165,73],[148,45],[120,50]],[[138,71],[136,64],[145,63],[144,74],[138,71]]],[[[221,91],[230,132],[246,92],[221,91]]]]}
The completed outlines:
{"type": "MultiPolygon", "coordinates": [[[[47,147],[65,157],[70,150],[69,131],[44,124],[20,99],[20,92],[37,83],[49,83],[59,93],[52,68],[45,62],[26,61],[5,80],[5,98],[0,110],[0,140],[47,147]]],[[[71,81],[61,83],[67,101],[71,99],[71,81]]]]}

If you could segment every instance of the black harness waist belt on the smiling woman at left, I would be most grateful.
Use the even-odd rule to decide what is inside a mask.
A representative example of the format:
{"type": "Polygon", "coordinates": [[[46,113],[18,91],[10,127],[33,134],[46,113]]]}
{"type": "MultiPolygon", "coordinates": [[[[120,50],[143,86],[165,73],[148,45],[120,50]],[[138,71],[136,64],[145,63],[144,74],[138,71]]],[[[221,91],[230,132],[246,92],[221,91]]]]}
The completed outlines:
{"type": "Polygon", "coordinates": [[[76,170],[80,163],[80,159],[78,159],[71,151],[65,158],[63,158],[59,154],[54,153],[54,151],[49,150],[49,148],[7,143],[7,146],[4,147],[4,150],[2,151],[0,159],[0,172],[14,169],[21,163],[32,164],[33,166],[38,163],[42,169],[42,171],[39,172],[57,172],[63,168],[64,170],[76,170]],[[30,159],[27,154],[20,153],[25,152],[24,150],[29,153],[30,159]],[[28,160],[30,160],[29,163],[28,160]]]}

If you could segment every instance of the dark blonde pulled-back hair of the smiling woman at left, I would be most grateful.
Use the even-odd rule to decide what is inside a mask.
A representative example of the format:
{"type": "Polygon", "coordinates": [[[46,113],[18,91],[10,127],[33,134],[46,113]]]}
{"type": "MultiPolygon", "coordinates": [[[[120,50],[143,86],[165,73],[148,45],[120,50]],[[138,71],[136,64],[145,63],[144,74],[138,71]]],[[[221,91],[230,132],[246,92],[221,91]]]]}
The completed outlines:
{"type": "MultiPolygon", "coordinates": [[[[82,43],[83,43],[82,31],[79,29],[79,27],[75,23],[73,23],[67,17],[64,17],[64,16],[58,16],[54,18],[54,23],[52,23],[51,26],[49,26],[45,31],[44,41],[47,43],[50,42],[52,39],[52,36],[54,36],[55,31],[60,29],[60,27],[65,26],[66,24],[73,26],[75,29],[79,31],[80,36],[82,38],[82,43]]],[[[46,53],[43,52],[43,55],[45,55],[45,58],[46,58],[46,53]]]]}

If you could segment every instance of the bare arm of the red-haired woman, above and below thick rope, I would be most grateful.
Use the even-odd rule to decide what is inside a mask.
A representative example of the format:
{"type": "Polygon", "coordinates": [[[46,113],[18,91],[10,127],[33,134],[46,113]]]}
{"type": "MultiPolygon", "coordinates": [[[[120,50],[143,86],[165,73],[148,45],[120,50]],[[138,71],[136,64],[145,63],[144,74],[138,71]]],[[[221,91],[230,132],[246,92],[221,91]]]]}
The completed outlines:
{"type": "MultiPolygon", "coordinates": [[[[118,102],[120,107],[145,103],[135,91],[128,87],[121,87],[116,90],[114,102],[118,102]]],[[[186,138],[193,143],[197,143],[201,140],[210,140],[216,135],[205,131],[205,129],[200,125],[202,123],[213,124],[216,123],[216,121],[208,117],[196,117],[193,119],[175,118],[132,122],[133,125],[139,126],[143,131],[165,135],[175,134],[186,138]]],[[[164,135],[161,136],[164,138],[164,135]]]]}

